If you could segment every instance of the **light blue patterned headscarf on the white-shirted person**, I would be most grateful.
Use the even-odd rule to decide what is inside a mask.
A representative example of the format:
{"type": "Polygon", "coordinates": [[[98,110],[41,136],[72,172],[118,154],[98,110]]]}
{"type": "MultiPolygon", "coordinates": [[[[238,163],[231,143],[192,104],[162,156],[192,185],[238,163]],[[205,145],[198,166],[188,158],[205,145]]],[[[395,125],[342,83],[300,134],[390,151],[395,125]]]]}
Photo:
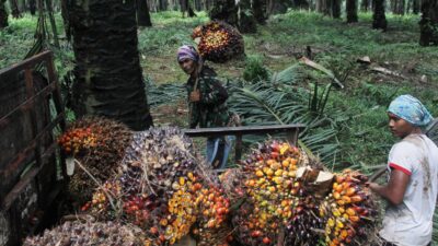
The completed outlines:
{"type": "Polygon", "coordinates": [[[417,127],[427,126],[434,120],[434,117],[422,102],[412,95],[401,95],[396,97],[391,102],[388,112],[417,127]]]}

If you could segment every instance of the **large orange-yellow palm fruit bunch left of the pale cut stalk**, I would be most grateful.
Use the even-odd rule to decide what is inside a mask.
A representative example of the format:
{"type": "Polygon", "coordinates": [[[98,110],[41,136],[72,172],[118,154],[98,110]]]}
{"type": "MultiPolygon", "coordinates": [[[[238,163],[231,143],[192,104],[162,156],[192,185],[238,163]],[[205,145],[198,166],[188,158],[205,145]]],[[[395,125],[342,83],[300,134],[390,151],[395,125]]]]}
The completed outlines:
{"type": "Polygon", "coordinates": [[[246,179],[243,187],[247,196],[249,208],[241,208],[233,220],[239,227],[244,245],[275,245],[279,227],[295,215],[300,196],[306,196],[297,180],[297,169],[301,165],[300,151],[287,142],[266,142],[242,162],[246,179]]]}

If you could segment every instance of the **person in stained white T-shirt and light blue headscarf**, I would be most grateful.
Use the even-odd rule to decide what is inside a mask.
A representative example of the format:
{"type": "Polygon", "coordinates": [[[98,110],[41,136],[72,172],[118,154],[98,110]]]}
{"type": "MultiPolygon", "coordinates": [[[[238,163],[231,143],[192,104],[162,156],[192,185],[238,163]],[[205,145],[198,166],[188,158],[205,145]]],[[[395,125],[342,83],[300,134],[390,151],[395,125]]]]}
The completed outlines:
{"type": "Polygon", "coordinates": [[[402,140],[388,159],[387,185],[370,183],[372,191],[388,200],[382,230],[384,246],[430,245],[438,191],[438,148],[422,128],[433,121],[415,97],[401,95],[388,108],[391,132],[402,140]]]}

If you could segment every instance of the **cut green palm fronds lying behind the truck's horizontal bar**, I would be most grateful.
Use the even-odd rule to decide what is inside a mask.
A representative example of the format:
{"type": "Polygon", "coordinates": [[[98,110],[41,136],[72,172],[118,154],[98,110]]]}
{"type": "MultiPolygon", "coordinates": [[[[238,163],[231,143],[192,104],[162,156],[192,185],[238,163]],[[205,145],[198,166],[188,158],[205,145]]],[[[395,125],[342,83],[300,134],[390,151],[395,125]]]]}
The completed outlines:
{"type": "MultiPolygon", "coordinates": [[[[289,72],[293,69],[289,69],[289,72]]],[[[279,81],[278,78],[277,80],[273,78],[272,81],[279,81]]],[[[255,82],[244,87],[237,85],[231,89],[233,93],[229,98],[229,106],[232,112],[242,116],[245,125],[298,122],[307,125],[300,133],[302,147],[311,150],[321,161],[330,163],[341,150],[336,138],[338,133],[336,119],[342,118],[343,113],[333,110],[330,114],[323,114],[331,85],[325,86],[322,93],[318,92],[318,84],[314,86],[311,93],[300,87],[292,90],[292,86],[287,84],[274,86],[272,82],[266,81],[255,82]],[[309,98],[314,101],[313,106],[309,106],[309,98]]]]}

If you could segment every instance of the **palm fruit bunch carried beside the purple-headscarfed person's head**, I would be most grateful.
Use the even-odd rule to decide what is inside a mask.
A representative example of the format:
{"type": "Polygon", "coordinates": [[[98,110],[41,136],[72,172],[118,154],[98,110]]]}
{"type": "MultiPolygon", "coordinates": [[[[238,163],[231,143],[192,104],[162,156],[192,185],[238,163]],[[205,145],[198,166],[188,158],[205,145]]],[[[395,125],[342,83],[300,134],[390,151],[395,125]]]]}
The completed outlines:
{"type": "Polygon", "coordinates": [[[197,26],[192,34],[199,38],[198,50],[205,60],[226,62],[244,54],[243,37],[237,28],[219,21],[197,26]]]}

